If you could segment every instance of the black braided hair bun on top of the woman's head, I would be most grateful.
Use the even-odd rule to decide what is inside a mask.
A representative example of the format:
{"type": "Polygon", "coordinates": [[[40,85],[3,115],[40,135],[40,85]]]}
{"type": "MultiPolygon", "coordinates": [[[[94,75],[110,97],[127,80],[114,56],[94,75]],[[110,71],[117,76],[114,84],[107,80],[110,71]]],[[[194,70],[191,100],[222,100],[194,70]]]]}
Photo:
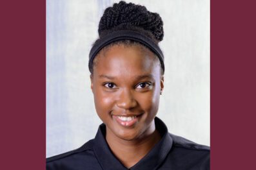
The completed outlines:
{"type": "Polygon", "coordinates": [[[99,21],[99,37],[105,31],[115,28],[139,28],[150,32],[157,41],[164,37],[162,19],[158,13],[152,13],[145,6],[120,1],[106,8],[99,21]]]}

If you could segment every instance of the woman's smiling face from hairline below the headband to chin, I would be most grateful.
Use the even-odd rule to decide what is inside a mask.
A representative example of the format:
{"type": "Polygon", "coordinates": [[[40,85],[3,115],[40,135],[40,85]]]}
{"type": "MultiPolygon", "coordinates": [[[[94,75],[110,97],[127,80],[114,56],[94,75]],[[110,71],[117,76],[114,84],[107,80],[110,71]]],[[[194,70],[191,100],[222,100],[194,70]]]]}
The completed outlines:
{"type": "Polygon", "coordinates": [[[95,60],[91,87],[107,136],[136,140],[153,133],[163,88],[159,60],[135,45],[109,47],[95,60]]]}

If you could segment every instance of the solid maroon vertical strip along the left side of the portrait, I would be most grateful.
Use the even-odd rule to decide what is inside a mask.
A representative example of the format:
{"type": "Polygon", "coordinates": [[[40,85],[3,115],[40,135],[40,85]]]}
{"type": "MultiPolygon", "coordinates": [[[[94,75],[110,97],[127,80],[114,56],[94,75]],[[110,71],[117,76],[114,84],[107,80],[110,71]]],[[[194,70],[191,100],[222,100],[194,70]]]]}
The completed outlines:
{"type": "Polygon", "coordinates": [[[0,169],[45,169],[46,1],[0,8],[0,169]]]}

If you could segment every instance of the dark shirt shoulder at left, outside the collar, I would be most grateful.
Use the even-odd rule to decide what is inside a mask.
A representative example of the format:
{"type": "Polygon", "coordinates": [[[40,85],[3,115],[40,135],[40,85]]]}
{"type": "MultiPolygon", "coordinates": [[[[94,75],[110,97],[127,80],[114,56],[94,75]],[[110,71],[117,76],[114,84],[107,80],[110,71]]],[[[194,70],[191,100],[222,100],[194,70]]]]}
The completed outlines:
{"type": "Polygon", "coordinates": [[[65,170],[70,167],[83,167],[84,165],[94,164],[96,160],[93,152],[94,139],[89,140],[83,146],[73,151],[46,158],[46,170],[65,170]]]}

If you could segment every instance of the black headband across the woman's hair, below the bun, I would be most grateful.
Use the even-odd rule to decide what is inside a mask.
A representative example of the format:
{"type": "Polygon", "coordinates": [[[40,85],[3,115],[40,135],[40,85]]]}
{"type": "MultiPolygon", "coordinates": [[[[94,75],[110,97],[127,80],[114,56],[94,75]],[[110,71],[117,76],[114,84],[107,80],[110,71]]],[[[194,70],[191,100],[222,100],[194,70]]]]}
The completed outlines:
{"type": "Polygon", "coordinates": [[[90,54],[89,54],[89,70],[92,72],[92,62],[99,53],[101,49],[103,49],[104,46],[107,46],[108,44],[111,44],[112,42],[118,41],[118,40],[134,40],[136,42],[140,42],[144,46],[148,47],[157,57],[159,58],[161,62],[162,71],[164,72],[164,55],[162,55],[162,51],[153,42],[153,40],[149,37],[146,37],[145,35],[132,30],[119,30],[119,31],[113,31],[113,33],[109,33],[105,37],[103,37],[101,40],[96,42],[94,46],[92,47],[90,54]]]}

